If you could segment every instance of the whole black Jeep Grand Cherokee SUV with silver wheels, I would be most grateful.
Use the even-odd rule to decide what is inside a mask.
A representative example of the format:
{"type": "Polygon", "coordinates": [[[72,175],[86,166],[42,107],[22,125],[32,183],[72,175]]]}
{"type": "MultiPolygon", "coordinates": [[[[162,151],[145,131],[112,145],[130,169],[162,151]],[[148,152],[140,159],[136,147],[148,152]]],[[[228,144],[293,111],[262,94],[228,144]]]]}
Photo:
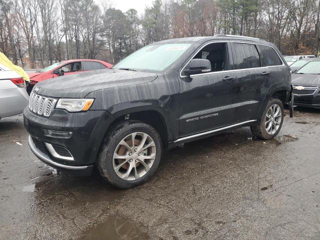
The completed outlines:
{"type": "Polygon", "coordinates": [[[250,126],[263,139],[292,115],[291,74],[274,44],[217,35],[147,45],[114,65],[37,83],[24,109],[32,152],[59,170],[96,166],[116,187],[145,182],[163,149],[250,126]]]}

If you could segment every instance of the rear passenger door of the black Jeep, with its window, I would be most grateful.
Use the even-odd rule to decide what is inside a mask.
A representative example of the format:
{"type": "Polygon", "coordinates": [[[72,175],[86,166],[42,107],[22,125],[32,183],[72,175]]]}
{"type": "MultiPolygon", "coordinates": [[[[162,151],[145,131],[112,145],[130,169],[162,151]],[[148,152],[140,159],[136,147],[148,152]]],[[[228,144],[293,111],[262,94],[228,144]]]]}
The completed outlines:
{"type": "Polygon", "coordinates": [[[231,42],[232,70],[236,71],[236,98],[234,122],[239,123],[255,118],[260,102],[270,79],[268,67],[261,66],[257,46],[251,42],[231,42]]]}

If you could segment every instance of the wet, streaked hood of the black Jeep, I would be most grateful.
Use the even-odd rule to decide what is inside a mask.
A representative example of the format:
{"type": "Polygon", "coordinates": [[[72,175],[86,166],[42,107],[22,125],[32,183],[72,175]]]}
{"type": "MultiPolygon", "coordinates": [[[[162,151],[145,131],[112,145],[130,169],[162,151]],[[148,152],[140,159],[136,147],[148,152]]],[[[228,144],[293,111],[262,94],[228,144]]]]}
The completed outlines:
{"type": "Polygon", "coordinates": [[[141,84],[152,81],[155,73],[102,69],[65,75],[41,81],[34,86],[36,93],[52,97],[84,97],[104,88],[141,84]]]}

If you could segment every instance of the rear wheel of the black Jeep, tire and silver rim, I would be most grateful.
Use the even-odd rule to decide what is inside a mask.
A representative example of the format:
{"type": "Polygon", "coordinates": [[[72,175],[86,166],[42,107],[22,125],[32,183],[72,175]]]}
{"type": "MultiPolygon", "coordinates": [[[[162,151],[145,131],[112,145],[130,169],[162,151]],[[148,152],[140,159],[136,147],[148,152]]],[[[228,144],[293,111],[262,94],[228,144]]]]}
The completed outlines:
{"type": "MultiPolygon", "coordinates": [[[[275,113],[276,113],[276,110],[275,110],[275,113]]],[[[252,125],[250,127],[252,134],[258,138],[265,139],[265,140],[275,137],[281,129],[281,126],[283,123],[283,116],[284,116],[284,110],[283,110],[282,102],[278,98],[271,97],[268,100],[268,103],[266,104],[265,110],[263,111],[263,114],[260,120],[255,125],[252,125]],[[275,106],[277,109],[280,109],[279,117],[276,117],[275,114],[272,115],[274,108],[271,108],[271,106],[272,107],[275,106]],[[269,126],[271,128],[268,129],[269,126]]]]}

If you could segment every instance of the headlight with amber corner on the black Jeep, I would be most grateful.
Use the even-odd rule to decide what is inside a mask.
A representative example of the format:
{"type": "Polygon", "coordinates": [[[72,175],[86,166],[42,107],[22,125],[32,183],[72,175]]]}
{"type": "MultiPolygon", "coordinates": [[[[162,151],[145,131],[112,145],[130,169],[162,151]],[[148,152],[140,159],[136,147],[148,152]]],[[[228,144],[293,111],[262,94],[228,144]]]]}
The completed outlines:
{"type": "Polygon", "coordinates": [[[92,98],[60,98],[56,103],[55,108],[65,109],[67,111],[86,111],[93,103],[92,98]]]}

